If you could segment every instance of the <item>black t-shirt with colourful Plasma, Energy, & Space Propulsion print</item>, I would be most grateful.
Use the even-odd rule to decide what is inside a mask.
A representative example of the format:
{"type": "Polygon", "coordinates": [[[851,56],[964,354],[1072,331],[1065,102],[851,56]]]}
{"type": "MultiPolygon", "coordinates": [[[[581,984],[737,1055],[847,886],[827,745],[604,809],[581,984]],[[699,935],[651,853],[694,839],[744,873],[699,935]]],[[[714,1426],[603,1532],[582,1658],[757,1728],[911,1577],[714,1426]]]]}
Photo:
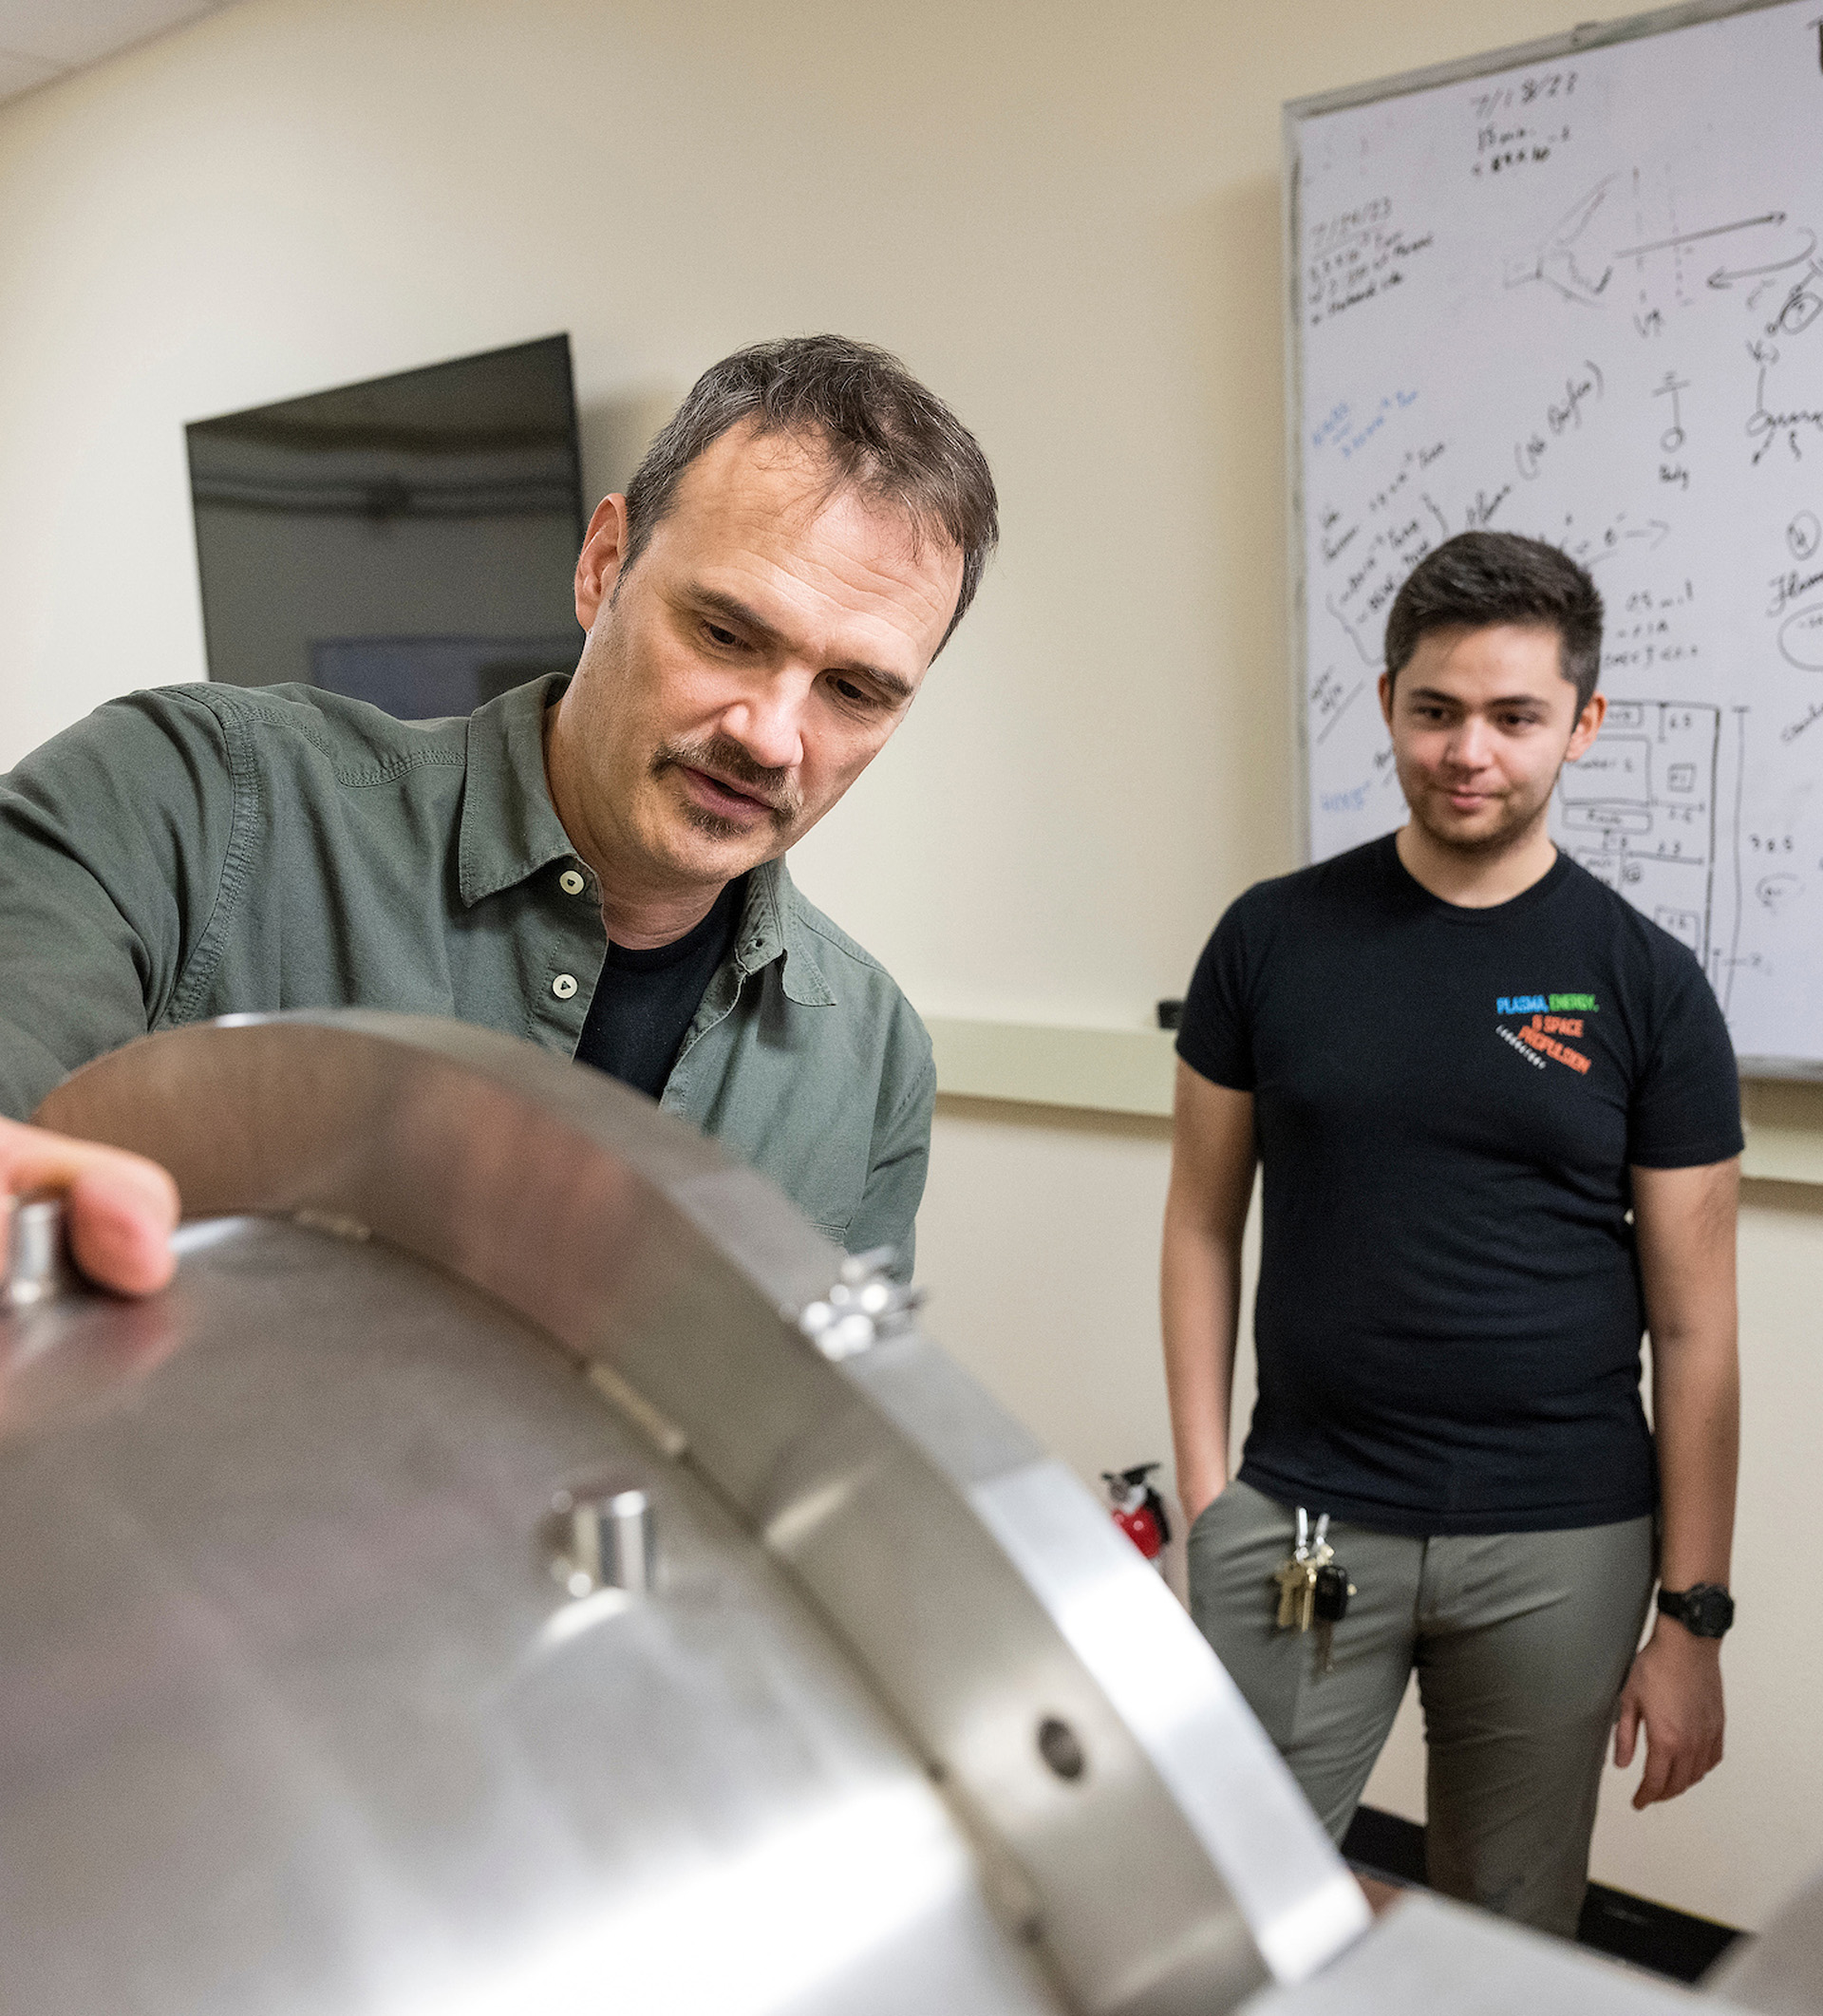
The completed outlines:
{"type": "Polygon", "coordinates": [[[1444,903],[1387,837],[1228,909],[1178,1054],[1254,1097],[1248,1484],[1404,1534],[1654,1508],[1627,1171],[1742,1145],[1678,939],[1565,855],[1444,903]]]}

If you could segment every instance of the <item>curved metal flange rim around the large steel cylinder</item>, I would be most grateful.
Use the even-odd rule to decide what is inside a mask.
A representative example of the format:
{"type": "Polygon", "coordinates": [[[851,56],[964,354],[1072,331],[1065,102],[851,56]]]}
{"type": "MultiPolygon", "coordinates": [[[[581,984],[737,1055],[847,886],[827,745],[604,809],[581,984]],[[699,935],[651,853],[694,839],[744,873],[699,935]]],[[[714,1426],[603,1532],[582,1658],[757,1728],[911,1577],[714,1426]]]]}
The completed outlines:
{"type": "Polygon", "coordinates": [[[149,1036],[36,1119],[161,1161],[190,1218],[387,1240],[591,1361],[793,1570],[1077,2008],[1230,2008],[1365,1925],[1095,1500],[916,1331],[819,1349],[801,1316],[839,1256],[647,1101],[508,1036],[347,1010],[149,1036]]]}

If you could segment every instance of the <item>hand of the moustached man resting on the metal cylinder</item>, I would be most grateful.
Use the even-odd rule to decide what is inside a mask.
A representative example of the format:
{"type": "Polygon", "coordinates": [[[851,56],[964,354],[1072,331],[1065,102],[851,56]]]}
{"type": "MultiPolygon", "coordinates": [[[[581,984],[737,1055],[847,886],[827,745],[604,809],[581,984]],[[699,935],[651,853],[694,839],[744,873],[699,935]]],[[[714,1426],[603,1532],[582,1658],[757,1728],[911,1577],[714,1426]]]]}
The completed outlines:
{"type": "Polygon", "coordinates": [[[143,1155],[0,1119],[0,1191],[63,1198],[71,1254],[103,1288],[153,1294],[175,1270],[177,1185],[143,1155]]]}

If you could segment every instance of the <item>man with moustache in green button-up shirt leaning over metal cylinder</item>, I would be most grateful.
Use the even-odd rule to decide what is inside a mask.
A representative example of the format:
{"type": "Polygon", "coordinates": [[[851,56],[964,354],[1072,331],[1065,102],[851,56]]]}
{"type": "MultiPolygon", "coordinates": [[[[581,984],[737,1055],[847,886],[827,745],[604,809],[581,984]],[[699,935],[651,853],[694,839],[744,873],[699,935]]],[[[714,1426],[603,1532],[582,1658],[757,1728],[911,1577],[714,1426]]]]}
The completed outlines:
{"type": "MultiPolygon", "coordinates": [[[[895,359],[766,343],[597,508],[575,675],[419,724],[296,685],[111,702],[0,780],[0,1111],[234,1010],[460,1016],[639,1087],[909,1272],[930,1040],[782,857],[994,538],[980,448],[895,359]]],[[[161,1276],[153,1175],[0,1123],[8,1171],[75,1185],[105,1278],[161,1276]]]]}

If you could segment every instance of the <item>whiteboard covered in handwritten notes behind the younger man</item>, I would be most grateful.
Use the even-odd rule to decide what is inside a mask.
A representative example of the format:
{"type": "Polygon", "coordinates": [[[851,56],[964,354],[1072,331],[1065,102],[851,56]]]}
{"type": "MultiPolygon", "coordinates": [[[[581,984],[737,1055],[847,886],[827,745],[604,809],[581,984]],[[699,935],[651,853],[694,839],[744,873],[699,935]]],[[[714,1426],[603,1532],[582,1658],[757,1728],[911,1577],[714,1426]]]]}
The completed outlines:
{"type": "Polygon", "coordinates": [[[1674,8],[1287,107],[1307,859],[1406,818],[1391,599],[1472,526],[1607,605],[1553,839],[1823,1070],[1823,6],[1674,8]]]}

